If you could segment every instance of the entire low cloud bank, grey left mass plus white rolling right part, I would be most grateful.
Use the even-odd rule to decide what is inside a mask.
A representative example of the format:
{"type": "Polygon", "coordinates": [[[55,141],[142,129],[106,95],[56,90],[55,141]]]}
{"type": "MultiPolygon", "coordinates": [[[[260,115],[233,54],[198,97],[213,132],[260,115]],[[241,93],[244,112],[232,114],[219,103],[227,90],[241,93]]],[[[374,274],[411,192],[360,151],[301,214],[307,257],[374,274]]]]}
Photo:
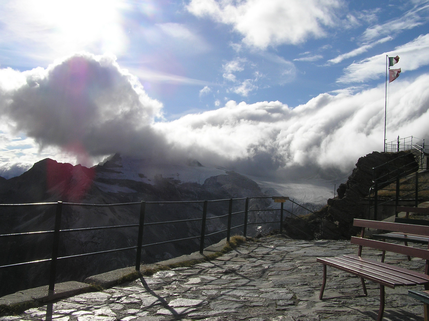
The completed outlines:
{"type": "MultiPolygon", "coordinates": [[[[428,82],[429,74],[396,80],[389,140],[429,136],[428,82]]],[[[9,177],[27,168],[31,157],[78,155],[82,163],[121,152],[157,161],[193,158],[277,179],[332,179],[383,149],[384,84],[357,94],[320,94],[295,108],[231,100],[163,121],[162,104],[115,57],[77,53],[46,69],[0,70],[0,113],[0,171],[9,177]],[[18,133],[24,137],[13,138],[18,133]]]]}

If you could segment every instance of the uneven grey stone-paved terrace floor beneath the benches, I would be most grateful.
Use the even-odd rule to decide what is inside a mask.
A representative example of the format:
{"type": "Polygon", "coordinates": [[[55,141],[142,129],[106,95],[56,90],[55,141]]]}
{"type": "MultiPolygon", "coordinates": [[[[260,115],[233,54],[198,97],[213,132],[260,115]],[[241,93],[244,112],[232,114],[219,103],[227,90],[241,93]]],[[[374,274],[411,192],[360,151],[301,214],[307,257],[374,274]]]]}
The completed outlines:
{"type": "MultiPolygon", "coordinates": [[[[360,279],[328,267],[325,297],[318,299],[322,265],[316,257],[356,251],[347,241],[263,237],[211,262],[160,271],[0,320],[375,320],[379,306],[375,283],[367,282],[369,296],[363,297],[360,279]]],[[[379,254],[363,251],[363,256],[373,258],[379,254]]],[[[423,260],[408,262],[405,256],[393,255],[387,255],[386,262],[424,269],[423,260]]],[[[407,293],[408,288],[386,288],[384,320],[423,320],[423,305],[407,293]]]]}

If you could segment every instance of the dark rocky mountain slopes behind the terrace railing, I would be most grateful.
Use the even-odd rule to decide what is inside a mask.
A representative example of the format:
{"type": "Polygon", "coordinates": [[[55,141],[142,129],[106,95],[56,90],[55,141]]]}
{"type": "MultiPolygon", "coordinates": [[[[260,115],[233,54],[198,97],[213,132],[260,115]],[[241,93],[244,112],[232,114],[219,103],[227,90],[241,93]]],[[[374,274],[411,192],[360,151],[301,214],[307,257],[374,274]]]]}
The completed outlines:
{"type": "MultiPolygon", "coordinates": [[[[39,203],[58,200],[71,203],[112,204],[145,201],[218,200],[264,197],[258,184],[233,171],[207,168],[192,160],[186,164],[154,164],[143,159],[115,154],[92,168],[44,159],[11,179],[0,179],[0,203],[39,203]]],[[[272,196],[272,195],[269,195],[272,196]]],[[[251,200],[249,209],[270,209],[271,200],[251,200]]],[[[278,206],[276,206],[277,208],[278,206]]],[[[243,211],[244,201],[234,202],[233,212],[243,211]]],[[[2,208],[0,234],[52,230],[53,206],[2,208]]],[[[225,215],[228,201],[209,203],[208,217],[225,215]]],[[[147,204],[145,222],[201,218],[202,203],[147,204]]],[[[137,224],[139,206],[63,206],[61,229],[137,224]]],[[[249,221],[278,220],[278,212],[251,212],[249,221]],[[277,218],[275,217],[277,215],[277,218]]],[[[206,233],[226,228],[227,218],[207,221],[206,233]]],[[[234,215],[233,225],[243,224],[234,215]]],[[[248,235],[268,231],[272,226],[250,225],[248,235]]],[[[201,221],[147,226],[144,244],[199,235],[201,221]]],[[[233,231],[234,233],[234,231],[233,231]]],[[[137,228],[62,233],[60,256],[125,248],[136,245],[137,228]]],[[[206,245],[225,237],[206,238],[206,245]]],[[[0,239],[0,265],[49,258],[51,236],[0,239]]],[[[166,243],[145,248],[142,260],[151,263],[198,251],[199,240],[166,243]]],[[[97,254],[59,263],[57,282],[85,277],[133,265],[135,250],[97,254]]],[[[48,283],[48,263],[0,270],[0,296],[48,283]]]]}

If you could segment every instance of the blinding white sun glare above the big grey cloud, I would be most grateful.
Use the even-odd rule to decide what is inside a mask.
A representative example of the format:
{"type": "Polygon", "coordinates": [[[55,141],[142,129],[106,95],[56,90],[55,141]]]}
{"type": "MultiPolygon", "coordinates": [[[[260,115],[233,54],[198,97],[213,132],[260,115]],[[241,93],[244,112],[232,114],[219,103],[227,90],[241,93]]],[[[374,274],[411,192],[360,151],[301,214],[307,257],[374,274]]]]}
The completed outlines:
{"type": "Polygon", "coordinates": [[[27,32],[31,28],[30,33],[37,33],[36,39],[47,42],[56,52],[66,55],[91,50],[118,55],[126,50],[121,16],[121,10],[127,9],[124,1],[24,0],[17,1],[15,9],[22,14],[27,32]]]}

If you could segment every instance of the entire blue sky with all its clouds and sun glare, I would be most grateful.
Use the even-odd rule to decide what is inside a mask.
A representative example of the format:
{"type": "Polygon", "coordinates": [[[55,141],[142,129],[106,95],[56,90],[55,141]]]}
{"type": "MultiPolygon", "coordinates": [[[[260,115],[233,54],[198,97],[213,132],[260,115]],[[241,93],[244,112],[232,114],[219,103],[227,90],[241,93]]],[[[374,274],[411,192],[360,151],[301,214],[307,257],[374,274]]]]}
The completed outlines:
{"type": "Polygon", "coordinates": [[[338,179],[429,137],[429,1],[4,0],[0,176],[46,157],[338,179]]]}

